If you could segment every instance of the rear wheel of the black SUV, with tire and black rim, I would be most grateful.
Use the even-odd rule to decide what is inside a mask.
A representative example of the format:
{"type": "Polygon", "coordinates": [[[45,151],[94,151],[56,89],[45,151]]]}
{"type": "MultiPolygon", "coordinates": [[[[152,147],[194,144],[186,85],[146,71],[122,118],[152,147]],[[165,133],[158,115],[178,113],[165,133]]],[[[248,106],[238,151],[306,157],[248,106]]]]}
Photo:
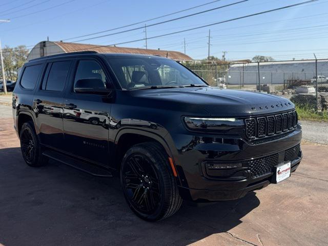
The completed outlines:
{"type": "Polygon", "coordinates": [[[42,147],[36,136],[32,121],[25,122],[19,134],[20,150],[27,165],[40,167],[48,162],[47,156],[42,154],[42,147]]]}

